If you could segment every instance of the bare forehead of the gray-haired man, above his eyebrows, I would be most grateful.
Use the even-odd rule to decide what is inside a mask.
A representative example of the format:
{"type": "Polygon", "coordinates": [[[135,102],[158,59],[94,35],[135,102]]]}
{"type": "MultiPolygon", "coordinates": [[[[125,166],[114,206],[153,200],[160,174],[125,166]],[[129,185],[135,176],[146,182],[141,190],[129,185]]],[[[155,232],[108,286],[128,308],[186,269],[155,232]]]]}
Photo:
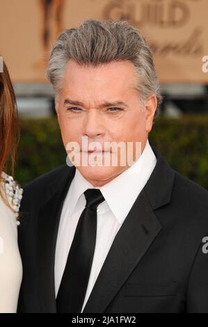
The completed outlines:
{"type": "MultiPolygon", "coordinates": [[[[130,93],[132,95],[132,92],[136,90],[137,78],[134,66],[132,68],[127,64],[125,69],[122,70],[122,65],[125,65],[125,63],[113,64],[111,67],[109,63],[103,65],[103,67],[92,68],[88,66],[81,67],[71,61],[70,65],[74,65],[74,67],[71,67],[71,69],[70,65],[67,66],[61,88],[64,104],[82,105],[72,102],[84,102],[86,104],[90,99],[96,102],[96,106],[105,106],[102,105],[105,102],[126,102],[125,98],[129,97],[130,93]],[[72,101],[70,103],[67,100],[72,101]]],[[[90,102],[92,104],[92,101],[90,102]]]]}

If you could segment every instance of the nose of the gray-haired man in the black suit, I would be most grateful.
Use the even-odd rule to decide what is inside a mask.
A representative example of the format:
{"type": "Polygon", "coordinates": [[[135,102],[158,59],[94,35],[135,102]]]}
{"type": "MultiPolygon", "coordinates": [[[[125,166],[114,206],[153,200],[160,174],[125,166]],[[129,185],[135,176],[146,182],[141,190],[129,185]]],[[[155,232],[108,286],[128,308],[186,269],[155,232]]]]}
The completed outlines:
{"type": "Polygon", "coordinates": [[[104,120],[98,109],[90,109],[83,121],[83,134],[94,139],[104,135],[104,120]]]}

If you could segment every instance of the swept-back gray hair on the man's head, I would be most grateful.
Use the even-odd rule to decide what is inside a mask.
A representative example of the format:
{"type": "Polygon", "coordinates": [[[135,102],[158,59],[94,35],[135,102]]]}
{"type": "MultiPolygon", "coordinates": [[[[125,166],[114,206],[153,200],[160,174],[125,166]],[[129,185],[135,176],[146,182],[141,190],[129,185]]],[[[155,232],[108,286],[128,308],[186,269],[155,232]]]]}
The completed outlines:
{"type": "Polygon", "coordinates": [[[159,80],[154,67],[152,51],[145,38],[127,22],[101,22],[89,19],[77,29],[66,29],[51,50],[47,77],[54,87],[55,97],[60,93],[67,62],[73,59],[79,65],[94,67],[112,61],[130,61],[138,76],[136,90],[141,103],[151,95],[157,97],[157,111],[161,104],[159,80]]]}

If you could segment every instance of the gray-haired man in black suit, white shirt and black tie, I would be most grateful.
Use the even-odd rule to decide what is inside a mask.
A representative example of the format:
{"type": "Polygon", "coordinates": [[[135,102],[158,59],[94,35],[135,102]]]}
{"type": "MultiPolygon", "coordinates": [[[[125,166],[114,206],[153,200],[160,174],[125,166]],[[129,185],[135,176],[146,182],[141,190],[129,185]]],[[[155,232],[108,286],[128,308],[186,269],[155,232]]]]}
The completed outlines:
{"type": "Polygon", "coordinates": [[[48,77],[70,161],[24,188],[18,312],[208,312],[208,192],[148,142],[161,95],[143,36],[63,31],[48,77]]]}

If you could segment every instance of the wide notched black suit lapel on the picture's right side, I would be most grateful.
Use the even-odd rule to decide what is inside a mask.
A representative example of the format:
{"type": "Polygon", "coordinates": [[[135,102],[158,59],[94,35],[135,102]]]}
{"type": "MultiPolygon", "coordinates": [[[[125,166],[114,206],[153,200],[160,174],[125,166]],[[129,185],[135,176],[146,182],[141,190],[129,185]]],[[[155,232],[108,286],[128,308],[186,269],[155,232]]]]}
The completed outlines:
{"type": "Polygon", "coordinates": [[[83,313],[106,310],[162,228],[154,209],[170,202],[175,174],[152,150],[157,165],[116,234],[83,313]]]}

